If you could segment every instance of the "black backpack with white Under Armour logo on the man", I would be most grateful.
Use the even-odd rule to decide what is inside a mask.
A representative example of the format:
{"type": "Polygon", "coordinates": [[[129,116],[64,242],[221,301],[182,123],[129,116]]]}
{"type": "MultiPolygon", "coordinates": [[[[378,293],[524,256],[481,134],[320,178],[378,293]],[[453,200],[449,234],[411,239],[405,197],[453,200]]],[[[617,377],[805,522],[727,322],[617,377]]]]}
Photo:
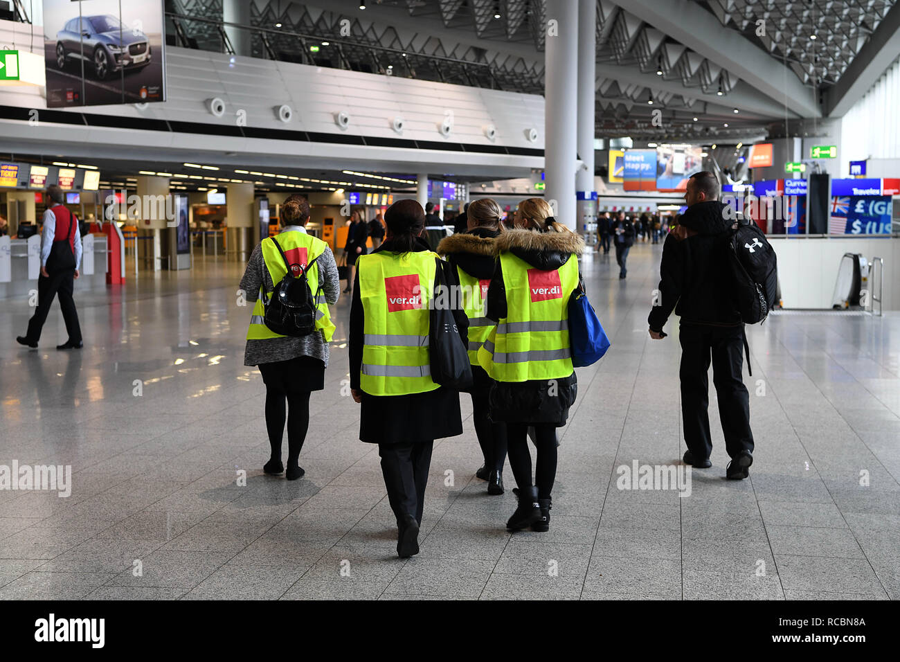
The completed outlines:
{"type": "Polygon", "coordinates": [[[728,263],[741,319],[746,324],[761,323],[778,303],[775,249],[755,222],[743,218],[732,225],[728,245],[728,263]]]}

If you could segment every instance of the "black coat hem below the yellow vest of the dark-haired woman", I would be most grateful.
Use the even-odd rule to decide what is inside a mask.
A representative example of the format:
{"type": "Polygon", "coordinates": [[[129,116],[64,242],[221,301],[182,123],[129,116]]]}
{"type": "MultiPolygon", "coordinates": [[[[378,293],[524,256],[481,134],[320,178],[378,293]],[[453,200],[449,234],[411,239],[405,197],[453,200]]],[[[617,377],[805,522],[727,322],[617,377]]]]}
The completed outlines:
{"type": "Polygon", "coordinates": [[[459,391],[441,386],[410,395],[363,394],[359,440],[369,444],[419,443],[463,434],[459,391]]]}

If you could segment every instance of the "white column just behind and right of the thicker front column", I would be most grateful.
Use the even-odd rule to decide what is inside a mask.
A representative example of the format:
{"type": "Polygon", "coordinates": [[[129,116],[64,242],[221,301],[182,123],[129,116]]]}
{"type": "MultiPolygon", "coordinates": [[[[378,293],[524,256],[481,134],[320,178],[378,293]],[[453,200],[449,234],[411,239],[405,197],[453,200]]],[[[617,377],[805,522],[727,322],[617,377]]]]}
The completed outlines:
{"type": "MultiPolygon", "coordinates": [[[[594,237],[597,230],[597,192],[594,190],[594,108],[597,65],[597,3],[578,4],[578,156],[575,174],[577,231],[594,237]]],[[[591,241],[593,243],[593,241],[591,241]]]]}

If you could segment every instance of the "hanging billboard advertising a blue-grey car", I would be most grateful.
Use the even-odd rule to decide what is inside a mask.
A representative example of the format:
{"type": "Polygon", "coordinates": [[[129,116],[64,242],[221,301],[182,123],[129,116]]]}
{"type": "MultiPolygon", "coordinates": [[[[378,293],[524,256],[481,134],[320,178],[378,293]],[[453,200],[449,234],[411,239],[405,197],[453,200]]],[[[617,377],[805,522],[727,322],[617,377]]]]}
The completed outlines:
{"type": "Polygon", "coordinates": [[[162,0],[44,0],[49,108],[166,101],[162,0]]]}

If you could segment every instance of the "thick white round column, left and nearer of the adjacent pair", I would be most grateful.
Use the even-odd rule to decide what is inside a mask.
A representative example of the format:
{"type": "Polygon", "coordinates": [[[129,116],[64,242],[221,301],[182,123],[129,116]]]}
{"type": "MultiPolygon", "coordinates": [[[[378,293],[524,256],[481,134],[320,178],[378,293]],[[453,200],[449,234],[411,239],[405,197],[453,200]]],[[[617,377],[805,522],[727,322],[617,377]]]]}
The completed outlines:
{"type": "MultiPolygon", "coordinates": [[[[575,230],[575,126],[578,120],[578,0],[547,3],[545,198],[558,222],[575,230]]],[[[594,84],[591,82],[591,92],[594,84]]]]}

